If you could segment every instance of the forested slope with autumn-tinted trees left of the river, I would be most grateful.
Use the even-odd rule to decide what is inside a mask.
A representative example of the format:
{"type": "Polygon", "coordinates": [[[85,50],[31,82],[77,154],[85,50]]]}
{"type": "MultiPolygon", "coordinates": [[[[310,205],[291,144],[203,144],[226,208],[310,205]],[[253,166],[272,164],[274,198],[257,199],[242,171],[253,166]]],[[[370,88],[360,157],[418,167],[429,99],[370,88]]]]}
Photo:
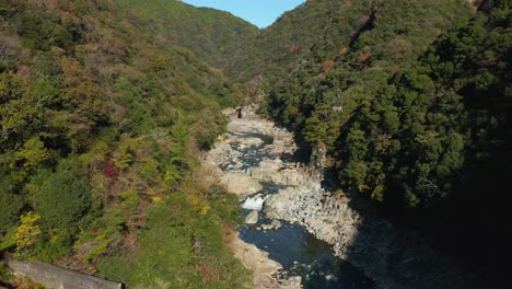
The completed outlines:
{"type": "Polygon", "coordinates": [[[236,95],[129,13],[0,1],[0,251],[131,287],[242,288],[221,230],[236,198],[194,157],[236,95]]]}

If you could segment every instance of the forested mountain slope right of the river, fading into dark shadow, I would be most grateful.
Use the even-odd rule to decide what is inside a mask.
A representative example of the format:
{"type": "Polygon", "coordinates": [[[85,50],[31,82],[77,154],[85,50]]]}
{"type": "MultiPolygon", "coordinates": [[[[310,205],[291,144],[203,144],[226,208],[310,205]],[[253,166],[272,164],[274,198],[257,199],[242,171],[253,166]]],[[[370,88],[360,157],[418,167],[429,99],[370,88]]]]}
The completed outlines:
{"type": "MultiPolygon", "coordinates": [[[[327,149],[330,155],[327,163],[338,171],[340,182],[346,188],[366,192],[380,201],[389,200],[397,208],[428,207],[430,201],[435,203],[435,199],[442,198],[443,185],[451,186],[441,180],[452,177],[452,172],[463,165],[459,163],[462,158],[455,155],[450,158],[457,159],[457,164],[442,164],[441,155],[449,158],[445,155],[447,151],[453,152],[455,149],[450,149],[444,142],[440,143],[446,152],[438,151],[439,155],[431,155],[437,160],[435,163],[427,164],[432,160],[423,163],[419,161],[419,155],[409,157],[411,162],[419,161],[408,164],[410,170],[406,170],[404,163],[394,163],[389,158],[410,155],[410,151],[405,151],[409,144],[403,143],[402,138],[404,141],[408,139],[420,143],[423,139],[430,139],[427,137],[429,131],[435,136],[449,135],[446,131],[431,131],[428,122],[433,122],[434,116],[428,115],[427,111],[430,108],[420,108],[439,105],[437,102],[441,97],[435,96],[438,94],[450,94],[441,92],[442,89],[437,86],[444,85],[446,89],[443,90],[450,88],[457,94],[467,90],[461,84],[465,83],[462,76],[451,76],[451,79],[447,76],[439,77],[437,74],[444,70],[432,67],[428,61],[443,59],[451,51],[456,51],[458,55],[453,56],[456,58],[455,62],[440,63],[440,67],[445,69],[445,66],[454,66],[453,69],[469,73],[479,68],[478,65],[468,63],[469,59],[477,61],[476,57],[485,58],[482,55],[488,55],[493,60],[488,61],[490,68],[487,68],[485,76],[499,76],[489,79],[490,82],[484,85],[494,85],[492,81],[507,82],[503,72],[509,48],[507,3],[485,1],[480,10],[475,20],[469,22],[473,12],[467,1],[309,1],[286,13],[261,33],[248,48],[248,53],[237,60],[235,70],[245,68],[247,72],[244,77],[249,89],[253,89],[251,92],[263,92],[266,95],[263,100],[265,109],[272,117],[300,132],[299,137],[311,149],[327,149]],[[329,7],[336,9],[329,10],[329,7]],[[490,24],[485,22],[491,8],[503,14],[500,16],[504,19],[498,24],[491,20],[488,21],[490,24]],[[315,24],[313,20],[321,23],[315,24]],[[477,21],[482,23],[472,24],[478,23],[477,21]],[[479,35],[466,33],[469,35],[461,36],[464,30],[477,30],[475,34],[479,35]],[[431,46],[434,42],[435,45],[441,45],[443,37],[454,37],[443,34],[446,31],[453,31],[454,35],[462,38],[457,45],[463,46],[458,44],[462,42],[468,47],[431,46]],[[438,39],[440,35],[443,36],[438,39]],[[490,44],[491,41],[497,44],[490,44]],[[284,46],[290,45],[293,49],[286,49],[284,46]],[[261,61],[247,57],[249,55],[257,55],[261,61]],[[464,65],[467,67],[462,68],[463,65],[458,63],[463,62],[461,59],[465,59],[464,65]],[[430,71],[424,67],[429,67],[430,71]],[[468,70],[469,68],[473,70],[468,70]],[[398,79],[402,79],[400,83],[396,83],[398,79]],[[405,93],[403,90],[406,86],[415,85],[418,90],[429,90],[427,94],[430,96],[416,100],[419,92],[414,92],[411,100],[404,95],[393,100],[386,96],[405,93]],[[261,91],[255,91],[255,88],[261,91]],[[365,117],[364,124],[360,120],[362,117],[365,117]],[[414,130],[405,129],[403,125],[410,126],[414,130]],[[370,137],[375,140],[371,141],[373,138],[370,137]],[[386,167],[395,171],[383,172],[386,167]],[[405,171],[400,173],[400,170],[405,171]],[[414,184],[406,184],[404,178],[396,181],[395,184],[402,184],[400,189],[384,184],[384,178],[399,178],[399,174],[408,181],[416,175],[416,181],[414,184]],[[386,188],[395,192],[393,194],[403,195],[386,199],[386,188]]],[[[496,85],[504,88],[503,84],[496,85]]],[[[491,114],[497,116],[499,113],[491,114]]],[[[496,120],[490,118],[492,117],[489,116],[487,123],[496,120]]],[[[437,124],[434,128],[438,129],[439,126],[437,124]]],[[[461,150],[469,149],[469,146],[463,146],[461,141],[458,147],[455,144],[456,140],[452,144],[458,148],[456,151],[463,153],[461,150]]],[[[464,141],[473,143],[476,140],[464,141]]],[[[418,153],[420,151],[424,152],[418,148],[418,153]]],[[[317,155],[313,155],[315,157],[317,155]]]]}

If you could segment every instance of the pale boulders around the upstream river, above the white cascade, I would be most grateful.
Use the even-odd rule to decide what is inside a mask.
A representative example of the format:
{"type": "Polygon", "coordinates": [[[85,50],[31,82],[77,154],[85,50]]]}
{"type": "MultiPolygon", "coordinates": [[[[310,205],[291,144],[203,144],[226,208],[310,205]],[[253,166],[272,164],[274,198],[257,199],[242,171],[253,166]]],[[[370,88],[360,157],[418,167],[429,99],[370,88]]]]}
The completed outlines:
{"type": "Polygon", "coordinates": [[[295,163],[281,160],[282,155],[293,154],[296,150],[293,135],[275,127],[274,123],[261,119],[254,113],[254,108],[249,107],[244,111],[243,118],[237,118],[236,114],[231,112],[228,135],[223,136],[223,140],[218,142],[207,155],[207,161],[213,166],[229,169],[230,173],[223,173],[219,169],[221,181],[228,190],[237,194],[243,199],[261,189],[256,185],[257,181],[291,186],[309,182],[307,177],[304,177],[309,173],[295,163]],[[259,137],[249,137],[253,135],[259,137]],[[271,140],[265,143],[261,137],[271,138],[271,140]],[[263,149],[268,158],[254,166],[243,169],[244,155],[240,150],[257,146],[264,146],[263,149]]]}

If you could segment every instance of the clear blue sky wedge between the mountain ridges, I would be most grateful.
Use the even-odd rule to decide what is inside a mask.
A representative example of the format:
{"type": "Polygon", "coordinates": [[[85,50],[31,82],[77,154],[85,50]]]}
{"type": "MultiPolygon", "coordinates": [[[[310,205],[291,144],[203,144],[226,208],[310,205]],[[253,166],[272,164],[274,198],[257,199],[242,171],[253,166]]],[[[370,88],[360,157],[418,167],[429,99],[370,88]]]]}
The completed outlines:
{"type": "Polygon", "coordinates": [[[210,7],[232,14],[264,28],[283,12],[292,10],[304,0],[183,0],[195,7],[210,7]]]}

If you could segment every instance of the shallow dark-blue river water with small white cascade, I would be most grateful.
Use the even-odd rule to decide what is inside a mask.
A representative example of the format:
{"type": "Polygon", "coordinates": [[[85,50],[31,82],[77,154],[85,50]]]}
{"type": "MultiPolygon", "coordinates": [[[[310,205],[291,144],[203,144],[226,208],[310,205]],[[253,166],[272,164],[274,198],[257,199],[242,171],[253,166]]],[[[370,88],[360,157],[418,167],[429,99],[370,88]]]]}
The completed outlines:
{"type": "MultiPolygon", "coordinates": [[[[260,138],[264,143],[248,148],[232,146],[233,150],[241,152],[238,161],[243,163],[243,166],[237,170],[256,166],[261,160],[268,158],[264,146],[272,142],[272,137],[260,134],[247,134],[246,137],[260,138]]],[[[224,165],[221,169],[225,172],[235,170],[231,165],[224,165]]],[[[242,240],[268,252],[270,258],[283,266],[283,274],[301,276],[304,288],[375,288],[373,281],[365,277],[362,270],[337,258],[330,245],[317,240],[303,227],[281,221],[282,227],[278,230],[261,230],[261,224],[271,221],[261,217],[265,197],[277,193],[282,187],[274,183],[261,183],[261,185],[263,192],[248,197],[243,204],[245,215],[252,210],[259,210],[259,220],[257,224],[246,224],[241,228],[242,240]]]]}

